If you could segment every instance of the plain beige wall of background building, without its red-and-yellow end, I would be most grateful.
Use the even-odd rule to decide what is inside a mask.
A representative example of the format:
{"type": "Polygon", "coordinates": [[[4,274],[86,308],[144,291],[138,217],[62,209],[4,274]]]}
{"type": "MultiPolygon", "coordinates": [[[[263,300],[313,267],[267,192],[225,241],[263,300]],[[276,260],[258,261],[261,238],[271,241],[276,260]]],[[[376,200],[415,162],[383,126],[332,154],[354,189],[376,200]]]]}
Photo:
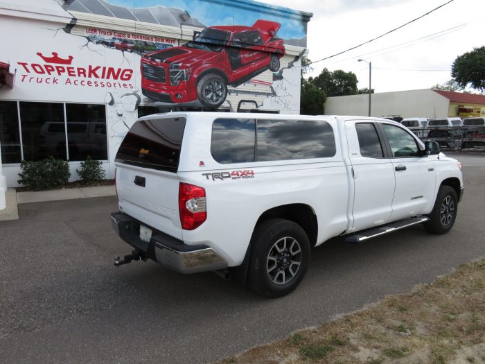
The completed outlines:
{"type": "MultiPolygon", "coordinates": [[[[371,116],[400,115],[407,117],[448,116],[448,98],[432,89],[383,92],[372,94],[371,116]]],[[[358,115],[369,113],[369,94],[329,97],[325,103],[327,115],[358,115]]]]}

